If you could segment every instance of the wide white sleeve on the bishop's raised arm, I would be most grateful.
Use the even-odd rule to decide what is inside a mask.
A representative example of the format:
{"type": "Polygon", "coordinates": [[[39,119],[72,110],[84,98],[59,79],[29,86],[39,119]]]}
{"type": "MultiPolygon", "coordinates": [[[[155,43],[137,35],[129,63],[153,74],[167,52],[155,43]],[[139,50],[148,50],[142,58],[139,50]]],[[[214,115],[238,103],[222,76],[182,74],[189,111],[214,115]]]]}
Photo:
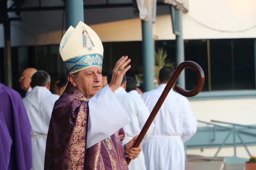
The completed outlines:
{"type": "Polygon", "coordinates": [[[88,107],[86,149],[111,136],[131,121],[123,105],[108,85],[89,99],[88,107]]]}

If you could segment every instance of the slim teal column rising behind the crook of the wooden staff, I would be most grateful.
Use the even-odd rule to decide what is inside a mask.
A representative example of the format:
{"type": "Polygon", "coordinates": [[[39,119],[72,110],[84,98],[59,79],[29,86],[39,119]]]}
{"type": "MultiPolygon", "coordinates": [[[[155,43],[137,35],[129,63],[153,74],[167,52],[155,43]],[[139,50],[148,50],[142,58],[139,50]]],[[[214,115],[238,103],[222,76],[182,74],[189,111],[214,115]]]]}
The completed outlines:
{"type": "MultiPolygon", "coordinates": [[[[184,57],[184,41],[182,36],[182,5],[170,5],[172,16],[173,33],[176,34],[176,66],[181,64],[184,57]]],[[[185,71],[183,70],[178,78],[177,84],[185,88],[185,71]]]]}

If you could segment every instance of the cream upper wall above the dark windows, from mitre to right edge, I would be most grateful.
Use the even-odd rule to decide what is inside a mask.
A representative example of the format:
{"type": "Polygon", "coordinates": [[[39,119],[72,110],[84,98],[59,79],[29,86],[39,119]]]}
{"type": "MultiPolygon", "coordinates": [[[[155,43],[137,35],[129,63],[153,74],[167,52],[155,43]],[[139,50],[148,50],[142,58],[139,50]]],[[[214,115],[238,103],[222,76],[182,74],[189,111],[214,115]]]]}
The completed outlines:
{"type": "MultiPolygon", "coordinates": [[[[183,38],[255,38],[255,6],[255,0],[244,0],[243,3],[238,0],[189,0],[189,12],[183,14],[183,38]],[[252,28],[253,26],[254,28],[252,28]]],[[[169,7],[159,6],[157,13],[156,22],[153,24],[154,38],[156,40],[175,39],[169,7]]],[[[141,41],[141,22],[138,20],[136,18],[107,22],[92,27],[97,29],[96,32],[100,37],[104,37],[102,41],[141,41]],[[122,27],[123,25],[124,27],[122,27]],[[105,26],[110,28],[107,31],[108,35],[105,35],[105,29],[101,29],[105,26]],[[119,29],[116,34],[117,28],[119,29]],[[126,34],[130,36],[125,36],[126,34]]]]}

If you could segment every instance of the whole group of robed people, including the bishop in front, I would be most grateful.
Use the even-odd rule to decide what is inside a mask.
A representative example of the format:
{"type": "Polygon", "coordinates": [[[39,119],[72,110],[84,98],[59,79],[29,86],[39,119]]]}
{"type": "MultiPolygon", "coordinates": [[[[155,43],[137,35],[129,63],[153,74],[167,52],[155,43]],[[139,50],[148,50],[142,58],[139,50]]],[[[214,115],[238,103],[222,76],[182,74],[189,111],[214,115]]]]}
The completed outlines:
{"type": "Polygon", "coordinates": [[[36,68],[21,73],[24,96],[0,83],[0,169],[185,170],[184,143],[197,121],[174,90],[133,147],[173,68],[162,68],[158,88],[144,93],[125,76],[128,56],[102,76],[102,42],[83,22],[67,29],[59,52],[69,75],[52,91],[50,75],[36,68]]]}

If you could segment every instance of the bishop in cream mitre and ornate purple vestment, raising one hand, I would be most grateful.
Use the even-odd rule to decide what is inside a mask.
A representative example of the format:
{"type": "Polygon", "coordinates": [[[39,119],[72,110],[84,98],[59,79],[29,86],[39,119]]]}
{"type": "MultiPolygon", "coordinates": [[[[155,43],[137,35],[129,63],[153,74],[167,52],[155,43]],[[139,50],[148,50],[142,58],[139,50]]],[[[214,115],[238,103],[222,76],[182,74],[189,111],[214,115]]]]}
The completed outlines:
{"type": "Polygon", "coordinates": [[[79,22],[69,27],[60,44],[69,70],[68,84],[56,101],[50,121],[45,170],[128,170],[125,155],[138,157],[137,136],[122,144],[122,127],[130,118],[114,94],[130,59],[121,57],[112,81],[102,88],[103,45],[98,35],[79,22]]]}

